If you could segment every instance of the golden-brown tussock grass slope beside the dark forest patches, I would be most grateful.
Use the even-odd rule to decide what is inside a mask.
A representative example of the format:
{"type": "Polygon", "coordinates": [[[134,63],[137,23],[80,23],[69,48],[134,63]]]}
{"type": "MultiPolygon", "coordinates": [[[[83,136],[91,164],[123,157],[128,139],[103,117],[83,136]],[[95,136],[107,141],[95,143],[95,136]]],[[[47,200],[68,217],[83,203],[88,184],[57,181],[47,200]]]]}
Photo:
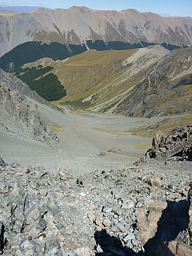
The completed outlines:
{"type": "Polygon", "coordinates": [[[52,73],[55,73],[67,91],[67,95],[54,104],[67,103],[73,105],[73,108],[87,108],[90,103],[82,103],[82,100],[90,95],[94,98],[94,104],[103,103],[132,87],[131,82],[123,80],[124,70],[121,69],[121,63],[137,50],[89,50],[68,60],[38,60],[25,65],[25,68],[36,65],[52,66],[52,73]]]}

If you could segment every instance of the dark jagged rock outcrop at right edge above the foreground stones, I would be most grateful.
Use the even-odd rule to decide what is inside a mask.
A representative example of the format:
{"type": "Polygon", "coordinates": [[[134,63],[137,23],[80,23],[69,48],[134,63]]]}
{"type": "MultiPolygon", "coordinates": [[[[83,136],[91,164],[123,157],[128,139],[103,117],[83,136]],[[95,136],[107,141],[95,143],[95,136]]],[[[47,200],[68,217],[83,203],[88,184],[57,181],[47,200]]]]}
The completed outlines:
{"type": "Polygon", "coordinates": [[[192,161],[192,126],[176,128],[172,135],[165,136],[156,132],[152,148],[145,154],[151,159],[167,159],[175,157],[180,160],[192,161]]]}

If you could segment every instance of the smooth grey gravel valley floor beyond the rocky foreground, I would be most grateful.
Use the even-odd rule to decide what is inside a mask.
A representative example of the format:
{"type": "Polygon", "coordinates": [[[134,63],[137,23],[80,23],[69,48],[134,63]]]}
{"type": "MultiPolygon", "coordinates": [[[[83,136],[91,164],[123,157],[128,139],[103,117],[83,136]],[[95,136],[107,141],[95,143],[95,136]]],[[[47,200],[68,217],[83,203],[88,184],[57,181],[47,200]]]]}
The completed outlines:
{"type": "MultiPolygon", "coordinates": [[[[132,166],[151,146],[151,139],[137,137],[129,129],[154,124],[162,118],[140,119],[96,113],[65,113],[38,104],[41,118],[59,129],[60,145],[51,148],[26,138],[20,132],[0,133],[0,152],[4,161],[24,165],[44,165],[51,172],[68,169],[82,175],[101,169],[123,169],[132,166]]],[[[11,126],[12,124],[10,124],[11,126]]],[[[1,129],[1,127],[0,127],[1,129]]]]}

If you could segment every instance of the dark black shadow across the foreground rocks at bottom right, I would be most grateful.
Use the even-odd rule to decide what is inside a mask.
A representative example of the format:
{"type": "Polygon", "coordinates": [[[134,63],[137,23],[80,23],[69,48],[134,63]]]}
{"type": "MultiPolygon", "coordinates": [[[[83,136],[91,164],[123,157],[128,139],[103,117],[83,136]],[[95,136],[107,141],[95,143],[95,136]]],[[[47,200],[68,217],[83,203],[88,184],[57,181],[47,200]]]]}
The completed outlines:
{"type": "MultiPolygon", "coordinates": [[[[181,231],[188,228],[188,202],[167,201],[167,208],[164,209],[158,222],[155,236],[149,239],[144,245],[145,252],[134,252],[133,249],[123,247],[116,236],[109,236],[105,230],[95,232],[95,241],[103,252],[97,252],[97,256],[174,256],[165,242],[173,241],[181,231]]],[[[97,249],[97,247],[95,249],[97,249]]]]}

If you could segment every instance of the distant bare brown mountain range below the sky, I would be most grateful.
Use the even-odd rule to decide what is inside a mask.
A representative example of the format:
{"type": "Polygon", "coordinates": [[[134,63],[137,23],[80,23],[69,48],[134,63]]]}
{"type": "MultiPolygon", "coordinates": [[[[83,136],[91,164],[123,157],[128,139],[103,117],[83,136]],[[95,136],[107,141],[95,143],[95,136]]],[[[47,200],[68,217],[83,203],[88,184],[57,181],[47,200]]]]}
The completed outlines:
{"type": "Polygon", "coordinates": [[[89,40],[105,44],[121,41],[140,47],[145,43],[192,44],[191,17],[161,17],[135,9],[116,12],[71,7],[22,14],[1,12],[0,22],[0,56],[26,41],[86,45],[89,40]]]}

